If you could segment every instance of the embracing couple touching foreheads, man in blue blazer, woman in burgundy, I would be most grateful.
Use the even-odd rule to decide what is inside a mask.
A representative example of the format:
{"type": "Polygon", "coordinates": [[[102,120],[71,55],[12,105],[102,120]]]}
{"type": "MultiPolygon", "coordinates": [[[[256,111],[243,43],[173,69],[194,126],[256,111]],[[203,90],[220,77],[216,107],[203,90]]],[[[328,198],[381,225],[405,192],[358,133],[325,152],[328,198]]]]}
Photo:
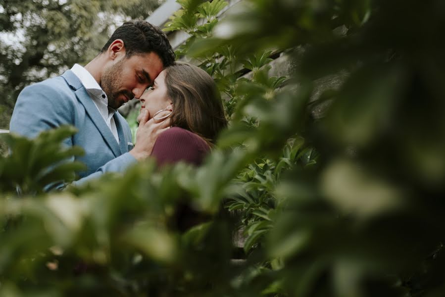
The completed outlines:
{"type": "Polygon", "coordinates": [[[213,79],[196,66],[175,62],[158,27],[132,21],[117,28],[85,67],[75,64],[20,93],[11,133],[33,138],[62,125],[79,130],[64,143],[85,150],[77,160],[88,169],[74,182],[82,184],[148,157],[159,166],[198,165],[227,121],[213,79]],[[133,98],[142,103],[134,147],[129,125],[117,111],[133,98]]]}

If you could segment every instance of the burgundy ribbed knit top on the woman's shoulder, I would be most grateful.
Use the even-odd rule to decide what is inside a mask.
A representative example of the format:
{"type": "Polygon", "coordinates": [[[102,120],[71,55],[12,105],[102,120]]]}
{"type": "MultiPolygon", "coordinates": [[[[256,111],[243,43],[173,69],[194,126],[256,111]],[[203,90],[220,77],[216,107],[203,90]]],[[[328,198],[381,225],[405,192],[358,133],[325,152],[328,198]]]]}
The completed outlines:
{"type": "Polygon", "coordinates": [[[159,135],[151,155],[156,158],[158,166],[179,161],[198,166],[209,150],[207,143],[198,135],[172,127],[159,135]]]}

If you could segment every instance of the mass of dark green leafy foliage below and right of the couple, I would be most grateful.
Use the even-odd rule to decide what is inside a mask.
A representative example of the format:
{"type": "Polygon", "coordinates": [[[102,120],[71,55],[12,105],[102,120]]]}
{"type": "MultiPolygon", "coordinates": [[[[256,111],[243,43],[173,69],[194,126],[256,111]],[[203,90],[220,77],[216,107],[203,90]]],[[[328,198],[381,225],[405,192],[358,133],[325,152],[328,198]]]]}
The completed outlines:
{"type": "MultiPolygon", "coordinates": [[[[178,54],[226,98],[218,148],[38,196],[2,171],[0,296],[443,296],[445,4],[245,0],[218,21],[225,1],[180,3],[178,54]]],[[[44,141],[10,136],[1,168],[44,141]]]]}

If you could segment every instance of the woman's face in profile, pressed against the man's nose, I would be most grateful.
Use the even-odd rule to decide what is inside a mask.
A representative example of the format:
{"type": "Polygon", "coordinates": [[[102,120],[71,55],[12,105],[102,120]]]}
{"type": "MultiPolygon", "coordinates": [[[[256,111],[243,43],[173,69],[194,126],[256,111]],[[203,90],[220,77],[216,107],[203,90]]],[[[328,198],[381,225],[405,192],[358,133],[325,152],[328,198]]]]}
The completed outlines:
{"type": "MultiPolygon", "coordinates": [[[[153,115],[161,109],[173,109],[172,101],[167,98],[165,70],[159,73],[154,80],[153,86],[148,88],[139,100],[141,101],[141,110],[138,115],[138,122],[142,119],[142,111],[144,109],[148,111],[148,119],[151,119],[153,115]]],[[[157,115],[156,118],[162,115],[157,115]]]]}

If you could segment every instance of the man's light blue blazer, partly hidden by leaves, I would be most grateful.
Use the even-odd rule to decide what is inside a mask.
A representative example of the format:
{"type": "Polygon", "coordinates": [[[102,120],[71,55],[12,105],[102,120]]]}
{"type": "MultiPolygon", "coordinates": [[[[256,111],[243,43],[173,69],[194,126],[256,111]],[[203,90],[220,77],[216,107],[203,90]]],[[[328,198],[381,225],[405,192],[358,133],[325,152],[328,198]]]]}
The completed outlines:
{"type": "Polygon", "coordinates": [[[26,87],[17,98],[9,125],[10,133],[36,137],[40,132],[61,125],[75,126],[79,132],[66,139],[68,146],[84,148],[85,155],[76,160],[85,163],[79,172],[82,184],[104,172],[122,172],[136,159],[128,152],[131,131],[125,119],[114,114],[119,143],[106,125],[84,86],[71,71],[26,87]]]}

